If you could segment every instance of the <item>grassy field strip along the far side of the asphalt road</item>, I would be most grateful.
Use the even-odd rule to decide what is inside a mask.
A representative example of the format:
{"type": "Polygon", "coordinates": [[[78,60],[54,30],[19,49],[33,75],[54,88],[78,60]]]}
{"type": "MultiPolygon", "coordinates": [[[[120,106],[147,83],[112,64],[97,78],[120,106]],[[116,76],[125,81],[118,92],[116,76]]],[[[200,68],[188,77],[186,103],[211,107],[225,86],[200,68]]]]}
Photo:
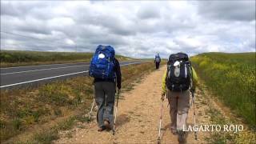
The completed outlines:
{"type": "MultiPolygon", "coordinates": [[[[67,62],[90,62],[92,53],[74,52],[43,52],[43,51],[22,51],[22,50],[1,50],[1,67],[30,66],[67,62]]],[[[132,60],[121,55],[116,55],[120,61],[132,60]]]]}

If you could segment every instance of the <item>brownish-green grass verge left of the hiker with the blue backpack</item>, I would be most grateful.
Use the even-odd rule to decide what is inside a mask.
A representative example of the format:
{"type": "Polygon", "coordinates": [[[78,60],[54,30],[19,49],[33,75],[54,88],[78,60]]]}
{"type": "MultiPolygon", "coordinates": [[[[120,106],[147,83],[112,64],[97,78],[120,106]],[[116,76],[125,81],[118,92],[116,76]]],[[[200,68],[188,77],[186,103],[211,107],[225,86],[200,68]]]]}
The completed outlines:
{"type": "Polygon", "coordinates": [[[78,77],[38,88],[1,90],[0,140],[62,117],[78,107],[89,106],[93,98],[92,81],[89,77],[78,77]]]}

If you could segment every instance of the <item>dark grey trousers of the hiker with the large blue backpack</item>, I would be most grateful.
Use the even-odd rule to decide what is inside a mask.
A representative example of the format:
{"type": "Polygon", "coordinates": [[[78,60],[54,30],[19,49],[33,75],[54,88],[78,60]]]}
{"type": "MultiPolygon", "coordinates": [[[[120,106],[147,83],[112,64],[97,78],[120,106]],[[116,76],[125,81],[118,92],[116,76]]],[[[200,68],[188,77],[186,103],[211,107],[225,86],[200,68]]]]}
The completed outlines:
{"type": "Polygon", "coordinates": [[[97,122],[102,127],[104,121],[109,121],[113,125],[114,120],[114,82],[95,82],[94,83],[95,100],[98,106],[97,122]]]}

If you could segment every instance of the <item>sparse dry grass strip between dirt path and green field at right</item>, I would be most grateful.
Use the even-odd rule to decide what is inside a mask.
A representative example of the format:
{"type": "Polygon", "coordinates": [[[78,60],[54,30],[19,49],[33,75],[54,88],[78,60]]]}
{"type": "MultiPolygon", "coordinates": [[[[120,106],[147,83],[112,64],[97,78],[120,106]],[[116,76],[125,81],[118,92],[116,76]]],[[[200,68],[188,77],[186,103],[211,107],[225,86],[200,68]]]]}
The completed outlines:
{"type": "MultiPolygon", "coordinates": [[[[207,105],[205,110],[205,114],[209,117],[210,122],[208,125],[214,126],[222,126],[222,130],[214,130],[210,133],[210,138],[206,138],[207,143],[255,143],[256,142],[256,133],[254,130],[250,129],[248,126],[243,125],[242,131],[225,131],[223,130],[223,126],[230,125],[242,125],[242,122],[238,118],[234,118],[234,115],[227,115],[226,113],[230,111],[225,111],[223,106],[218,105],[218,100],[214,98],[212,93],[208,90],[208,87],[204,84],[204,82],[199,82],[198,86],[201,94],[204,98],[204,101],[207,105]]],[[[232,130],[232,129],[230,129],[232,130]]]]}

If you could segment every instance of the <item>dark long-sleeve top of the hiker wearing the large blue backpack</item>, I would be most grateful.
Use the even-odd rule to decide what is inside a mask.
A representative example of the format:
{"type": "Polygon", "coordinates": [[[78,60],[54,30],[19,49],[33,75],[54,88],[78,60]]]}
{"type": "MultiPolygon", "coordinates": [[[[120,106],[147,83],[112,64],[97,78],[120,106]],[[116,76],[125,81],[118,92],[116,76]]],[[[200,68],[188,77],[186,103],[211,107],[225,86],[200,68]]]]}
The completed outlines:
{"type": "Polygon", "coordinates": [[[114,58],[114,73],[116,74],[115,79],[102,79],[102,78],[94,78],[94,82],[116,82],[118,89],[121,88],[122,74],[120,70],[120,64],[118,59],[114,58]]]}

